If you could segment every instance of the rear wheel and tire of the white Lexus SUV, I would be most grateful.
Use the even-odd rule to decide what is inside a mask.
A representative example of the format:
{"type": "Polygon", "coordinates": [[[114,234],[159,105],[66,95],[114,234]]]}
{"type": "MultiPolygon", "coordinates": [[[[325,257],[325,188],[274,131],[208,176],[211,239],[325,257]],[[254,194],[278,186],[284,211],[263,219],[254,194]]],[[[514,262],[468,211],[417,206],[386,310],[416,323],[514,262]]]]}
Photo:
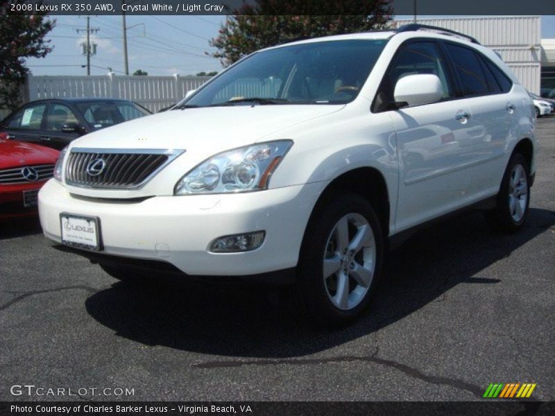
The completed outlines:
{"type": "Polygon", "coordinates": [[[530,168],[520,153],[509,159],[495,209],[486,213],[488,222],[499,232],[516,232],[524,225],[530,204],[530,168]]]}

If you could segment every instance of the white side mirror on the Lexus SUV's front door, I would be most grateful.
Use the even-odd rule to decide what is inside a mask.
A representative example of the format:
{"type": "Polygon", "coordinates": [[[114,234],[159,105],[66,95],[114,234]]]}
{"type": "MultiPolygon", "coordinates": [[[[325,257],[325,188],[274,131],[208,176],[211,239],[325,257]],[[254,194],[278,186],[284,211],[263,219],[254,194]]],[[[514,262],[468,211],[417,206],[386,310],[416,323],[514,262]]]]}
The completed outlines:
{"type": "Polygon", "coordinates": [[[437,103],[442,96],[441,81],[431,73],[404,76],[397,81],[393,93],[399,107],[437,103]]]}

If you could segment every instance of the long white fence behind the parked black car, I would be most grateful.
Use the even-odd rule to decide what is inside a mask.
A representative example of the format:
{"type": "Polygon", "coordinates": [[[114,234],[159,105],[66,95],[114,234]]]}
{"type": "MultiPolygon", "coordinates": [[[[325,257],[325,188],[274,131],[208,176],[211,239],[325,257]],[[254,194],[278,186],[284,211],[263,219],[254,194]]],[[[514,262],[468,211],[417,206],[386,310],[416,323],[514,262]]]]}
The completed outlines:
{"type": "Polygon", "coordinates": [[[180,101],[209,76],[28,76],[30,101],[43,98],[121,98],[151,112],[180,101]]]}

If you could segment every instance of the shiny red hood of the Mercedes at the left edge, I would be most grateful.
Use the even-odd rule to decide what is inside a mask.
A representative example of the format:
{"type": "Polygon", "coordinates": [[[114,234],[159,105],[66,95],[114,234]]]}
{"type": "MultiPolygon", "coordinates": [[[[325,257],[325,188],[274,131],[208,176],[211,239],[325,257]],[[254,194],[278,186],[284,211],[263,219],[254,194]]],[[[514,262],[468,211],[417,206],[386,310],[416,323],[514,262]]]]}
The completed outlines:
{"type": "Polygon", "coordinates": [[[58,150],[37,144],[0,139],[0,169],[34,164],[55,164],[59,153],[58,150]]]}

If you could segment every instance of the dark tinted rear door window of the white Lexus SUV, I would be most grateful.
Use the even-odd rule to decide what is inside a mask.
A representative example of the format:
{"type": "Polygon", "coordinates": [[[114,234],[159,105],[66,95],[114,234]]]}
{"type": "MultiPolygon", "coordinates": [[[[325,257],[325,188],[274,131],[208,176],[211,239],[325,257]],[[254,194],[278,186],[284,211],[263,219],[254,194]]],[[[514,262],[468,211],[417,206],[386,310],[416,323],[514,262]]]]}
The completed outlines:
{"type": "Polygon", "coordinates": [[[451,56],[456,76],[463,89],[463,96],[481,96],[490,94],[486,75],[480,64],[480,58],[464,46],[445,43],[451,56]]]}

